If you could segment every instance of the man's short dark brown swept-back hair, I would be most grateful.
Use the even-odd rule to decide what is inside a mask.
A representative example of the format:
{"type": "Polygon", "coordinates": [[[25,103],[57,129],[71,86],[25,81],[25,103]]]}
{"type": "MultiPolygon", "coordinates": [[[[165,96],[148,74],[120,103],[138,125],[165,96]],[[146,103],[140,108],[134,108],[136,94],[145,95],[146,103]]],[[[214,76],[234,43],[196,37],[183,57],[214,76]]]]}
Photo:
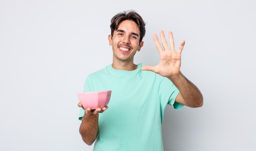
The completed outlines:
{"type": "Polygon", "coordinates": [[[111,36],[113,36],[114,31],[117,30],[119,24],[124,20],[132,20],[139,26],[139,30],[140,30],[139,42],[141,42],[146,33],[146,29],[145,29],[146,23],[141,18],[141,16],[134,10],[117,13],[111,19],[111,24],[110,24],[111,36]]]}

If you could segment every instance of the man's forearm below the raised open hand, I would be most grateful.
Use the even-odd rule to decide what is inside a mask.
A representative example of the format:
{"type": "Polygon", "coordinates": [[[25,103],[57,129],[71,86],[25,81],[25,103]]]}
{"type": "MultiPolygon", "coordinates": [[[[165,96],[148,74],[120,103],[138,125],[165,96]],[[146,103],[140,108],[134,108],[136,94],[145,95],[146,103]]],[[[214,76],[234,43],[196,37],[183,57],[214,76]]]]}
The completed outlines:
{"type": "Polygon", "coordinates": [[[201,107],[203,97],[200,90],[188,80],[182,73],[177,76],[168,77],[173,84],[180,90],[180,94],[184,100],[184,105],[189,107],[201,107]]]}

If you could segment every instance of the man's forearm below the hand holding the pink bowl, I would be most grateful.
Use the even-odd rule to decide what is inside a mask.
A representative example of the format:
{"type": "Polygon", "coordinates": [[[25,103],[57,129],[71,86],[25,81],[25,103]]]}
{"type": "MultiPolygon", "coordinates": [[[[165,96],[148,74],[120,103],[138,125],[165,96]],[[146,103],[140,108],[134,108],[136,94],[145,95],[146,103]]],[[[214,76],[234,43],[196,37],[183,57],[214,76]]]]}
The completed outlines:
{"type": "Polygon", "coordinates": [[[98,133],[98,119],[99,113],[97,115],[84,115],[82,123],[80,125],[79,132],[82,136],[83,141],[91,145],[97,138],[98,133]]]}

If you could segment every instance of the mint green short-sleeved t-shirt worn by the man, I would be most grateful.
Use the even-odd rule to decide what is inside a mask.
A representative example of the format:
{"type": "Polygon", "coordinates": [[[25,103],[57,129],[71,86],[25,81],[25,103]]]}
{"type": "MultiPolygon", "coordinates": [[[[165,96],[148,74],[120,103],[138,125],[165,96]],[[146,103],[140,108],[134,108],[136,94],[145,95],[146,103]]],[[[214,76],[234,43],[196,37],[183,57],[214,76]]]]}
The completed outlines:
{"type": "MultiPolygon", "coordinates": [[[[162,121],[166,105],[180,91],[168,78],[152,71],[116,70],[112,65],[90,74],[84,92],[112,90],[108,109],[99,114],[99,133],[94,151],[163,151],[162,121]]],[[[81,109],[79,119],[84,115],[81,109]]]]}

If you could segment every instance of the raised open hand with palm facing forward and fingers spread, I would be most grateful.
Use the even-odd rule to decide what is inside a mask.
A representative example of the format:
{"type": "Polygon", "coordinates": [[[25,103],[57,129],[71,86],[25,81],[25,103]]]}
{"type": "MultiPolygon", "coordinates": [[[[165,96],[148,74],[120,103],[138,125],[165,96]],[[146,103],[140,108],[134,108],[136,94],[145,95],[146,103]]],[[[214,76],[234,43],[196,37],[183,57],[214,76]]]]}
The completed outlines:
{"type": "Polygon", "coordinates": [[[155,67],[143,66],[141,67],[141,70],[153,71],[164,77],[177,76],[178,74],[180,74],[181,52],[184,47],[185,41],[183,40],[180,44],[179,49],[175,51],[173,33],[171,31],[168,32],[170,49],[168,48],[168,44],[164,36],[164,31],[160,31],[159,33],[163,47],[161,46],[157,35],[154,34],[153,39],[155,42],[155,46],[159,51],[160,63],[155,67]]]}

